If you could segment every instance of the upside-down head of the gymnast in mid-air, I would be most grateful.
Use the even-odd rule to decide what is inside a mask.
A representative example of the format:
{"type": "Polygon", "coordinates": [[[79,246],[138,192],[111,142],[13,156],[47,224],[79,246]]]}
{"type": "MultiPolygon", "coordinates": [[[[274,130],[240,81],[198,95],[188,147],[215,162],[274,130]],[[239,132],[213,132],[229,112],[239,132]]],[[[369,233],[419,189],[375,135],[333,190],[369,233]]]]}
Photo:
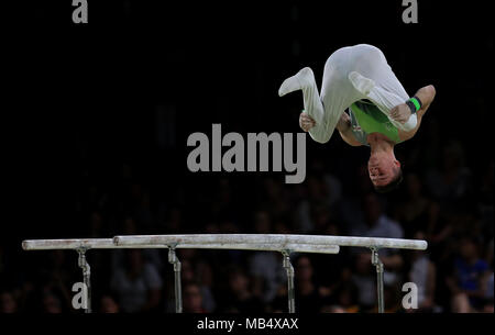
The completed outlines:
{"type": "Polygon", "coordinates": [[[403,181],[403,170],[394,150],[372,153],[367,161],[367,171],[378,193],[395,190],[403,181]]]}

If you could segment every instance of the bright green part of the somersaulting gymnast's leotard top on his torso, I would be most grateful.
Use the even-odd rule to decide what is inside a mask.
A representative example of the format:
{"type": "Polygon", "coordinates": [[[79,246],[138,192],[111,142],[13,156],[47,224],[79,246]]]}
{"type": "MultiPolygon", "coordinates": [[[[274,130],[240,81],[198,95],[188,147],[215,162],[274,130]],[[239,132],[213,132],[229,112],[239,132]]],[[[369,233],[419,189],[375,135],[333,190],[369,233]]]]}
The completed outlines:
{"type": "Polygon", "coordinates": [[[350,110],[354,114],[358,125],[365,135],[381,133],[395,143],[400,142],[397,127],[395,127],[387,115],[373,103],[358,101],[351,104],[350,110]]]}

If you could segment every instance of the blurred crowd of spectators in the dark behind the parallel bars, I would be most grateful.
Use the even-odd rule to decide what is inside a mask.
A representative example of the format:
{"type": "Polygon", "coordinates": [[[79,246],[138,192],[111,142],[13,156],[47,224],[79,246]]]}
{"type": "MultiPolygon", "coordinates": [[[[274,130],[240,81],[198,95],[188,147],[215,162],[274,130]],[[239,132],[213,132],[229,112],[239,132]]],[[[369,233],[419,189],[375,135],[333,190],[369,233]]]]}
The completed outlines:
{"type": "MultiPolygon", "coordinates": [[[[95,180],[81,185],[75,203],[80,222],[73,224],[73,232],[80,237],[294,233],[420,238],[428,242],[427,250],[380,252],[386,311],[493,313],[493,157],[470,165],[461,143],[437,143],[428,134],[435,130],[425,131],[407,155],[398,153],[405,180],[388,194],[373,191],[365,160],[339,169],[308,155],[307,178],[300,185],[262,174],[189,175],[189,181],[170,182],[166,190],[136,177],[132,164],[125,163],[110,187],[95,180]],[[405,282],[418,287],[417,310],[402,306],[405,282]]],[[[280,254],[177,254],[185,312],[286,311],[280,254]]],[[[87,256],[96,312],[174,312],[173,266],[166,249],[90,250],[87,256]]],[[[80,312],[72,308],[72,287],[81,280],[76,253],[24,253],[16,260],[22,267],[8,260],[0,248],[1,312],[80,312]]],[[[292,261],[298,312],[376,311],[370,250],[342,247],[338,255],[293,254],[292,261]]]]}

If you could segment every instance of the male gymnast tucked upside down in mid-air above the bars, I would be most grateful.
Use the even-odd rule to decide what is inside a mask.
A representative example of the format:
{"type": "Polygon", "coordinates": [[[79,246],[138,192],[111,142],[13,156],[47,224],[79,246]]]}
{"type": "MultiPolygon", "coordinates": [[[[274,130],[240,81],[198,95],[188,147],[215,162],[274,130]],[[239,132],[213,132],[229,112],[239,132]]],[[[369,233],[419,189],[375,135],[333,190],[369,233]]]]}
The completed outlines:
{"type": "Polygon", "coordinates": [[[328,58],[321,94],[309,67],[287,78],[278,96],[296,90],[302,90],[305,107],[299,125],[312,139],[327,143],[337,127],[351,146],[370,146],[367,169],[377,192],[400,183],[403,172],[394,146],[418,131],[436,94],[432,85],[409,98],[382,51],[359,44],[342,47],[328,58]]]}

